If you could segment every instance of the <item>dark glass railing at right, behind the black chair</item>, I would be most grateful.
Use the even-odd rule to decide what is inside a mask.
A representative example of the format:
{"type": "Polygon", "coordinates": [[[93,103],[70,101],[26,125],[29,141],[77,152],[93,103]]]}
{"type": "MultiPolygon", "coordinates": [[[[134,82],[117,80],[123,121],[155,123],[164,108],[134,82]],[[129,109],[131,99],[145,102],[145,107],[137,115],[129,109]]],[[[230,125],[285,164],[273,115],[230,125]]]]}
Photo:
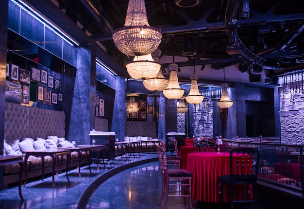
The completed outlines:
{"type": "Polygon", "coordinates": [[[234,147],[259,149],[259,180],[304,193],[304,145],[282,144],[276,137],[246,137],[222,141],[224,151],[234,147]]]}

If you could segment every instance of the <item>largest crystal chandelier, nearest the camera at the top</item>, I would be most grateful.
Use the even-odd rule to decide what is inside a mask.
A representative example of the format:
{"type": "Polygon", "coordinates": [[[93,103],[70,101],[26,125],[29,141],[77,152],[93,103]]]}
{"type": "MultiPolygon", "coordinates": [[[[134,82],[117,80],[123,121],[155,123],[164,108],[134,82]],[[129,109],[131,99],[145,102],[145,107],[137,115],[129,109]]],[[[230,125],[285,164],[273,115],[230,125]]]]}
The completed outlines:
{"type": "Polygon", "coordinates": [[[113,31],[113,41],[123,54],[151,54],[160,44],[162,33],[148,23],[144,0],[129,0],[124,27],[113,31]]]}

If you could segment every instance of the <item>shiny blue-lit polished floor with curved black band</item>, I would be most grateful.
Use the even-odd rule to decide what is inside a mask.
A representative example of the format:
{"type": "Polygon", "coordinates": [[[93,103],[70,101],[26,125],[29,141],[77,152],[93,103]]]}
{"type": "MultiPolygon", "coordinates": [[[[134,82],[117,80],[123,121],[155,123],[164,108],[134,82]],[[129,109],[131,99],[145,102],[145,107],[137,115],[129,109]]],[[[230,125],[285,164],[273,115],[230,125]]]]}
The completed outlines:
{"type": "MultiPolygon", "coordinates": [[[[159,209],[162,179],[156,154],[143,154],[132,159],[118,157],[114,163],[82,167],[81,177],[73,169],[68,176],[61,173],[55,177],[52,188],[51,177],[32,179],[22,194],[14,186],[0,191],[0,209],[159,209]],[[144,164],[142,164],[144,163],[144,164]],[[130,167],[134,166],[134,167],[130,167]]],[[[216,203],[202,203],[192,200],[194,209],[218,209],[216,203]]],[[[189,209],[183,197],[169,197],[166,209],[189,209]]],[[[223,208],[228,208],[224,205],[223,208]]],[[[242,208],[237,206],[236,208],[242,208]]],[[[253,206],[244,207],[253,209],[253,206]]],[[[258,209],[266,209],[258,206],[258,209]]]]}

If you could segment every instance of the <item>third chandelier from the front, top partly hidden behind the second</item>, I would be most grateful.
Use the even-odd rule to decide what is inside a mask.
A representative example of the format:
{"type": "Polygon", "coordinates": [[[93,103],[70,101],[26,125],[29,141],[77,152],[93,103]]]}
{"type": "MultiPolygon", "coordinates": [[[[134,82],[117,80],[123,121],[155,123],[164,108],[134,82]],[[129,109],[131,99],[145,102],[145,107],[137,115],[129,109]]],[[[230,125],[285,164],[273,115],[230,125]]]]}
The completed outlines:
{"type": "MultiPolygon", "coordinates": [[[[160,55],[161,55],[161,50],[157,48],[154,52],[152,52],[153,60],[159,63],[160,55]]],[[[167,88],[169,80],[165,78],[165,76],[162,74],[161,68],[159,68],[159,72],[155,77],[144,79],[142,82],[147,90],[162,91],[167,88]]]]}

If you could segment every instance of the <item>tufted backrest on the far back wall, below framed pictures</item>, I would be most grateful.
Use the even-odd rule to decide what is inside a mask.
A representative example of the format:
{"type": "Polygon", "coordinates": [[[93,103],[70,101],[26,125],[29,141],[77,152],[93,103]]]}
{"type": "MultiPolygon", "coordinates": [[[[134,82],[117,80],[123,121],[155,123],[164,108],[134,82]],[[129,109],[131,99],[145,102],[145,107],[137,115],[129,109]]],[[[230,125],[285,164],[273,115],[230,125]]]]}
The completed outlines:
{"type": "Polygon", "coordinates": [[[157,138],[156,122],[127,121],[127,136],[148,136],[157,138]]]}

